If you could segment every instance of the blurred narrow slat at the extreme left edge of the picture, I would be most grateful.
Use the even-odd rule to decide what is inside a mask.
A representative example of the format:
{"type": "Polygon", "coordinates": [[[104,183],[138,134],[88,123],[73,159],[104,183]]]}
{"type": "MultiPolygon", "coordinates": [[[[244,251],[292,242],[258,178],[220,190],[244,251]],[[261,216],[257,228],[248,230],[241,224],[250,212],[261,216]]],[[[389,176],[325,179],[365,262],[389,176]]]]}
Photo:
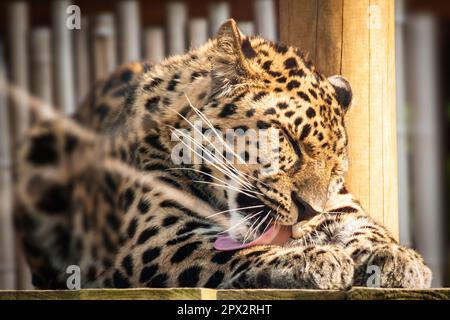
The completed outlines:
{"type": "Polygon", "coordinates": [[[6,83],[5,54],[3,42],[0,42],[0,290],[16,288],[11,174],[12,149],[6,83]]]}

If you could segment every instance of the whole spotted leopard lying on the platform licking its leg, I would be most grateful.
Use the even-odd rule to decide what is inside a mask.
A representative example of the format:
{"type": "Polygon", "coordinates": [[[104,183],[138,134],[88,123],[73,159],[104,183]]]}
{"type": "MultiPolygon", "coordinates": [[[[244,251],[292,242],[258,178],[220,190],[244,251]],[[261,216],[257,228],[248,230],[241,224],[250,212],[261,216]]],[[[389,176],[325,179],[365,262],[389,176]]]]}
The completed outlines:
{"type": "Polygon", "coordinates": [[[343,76],[232,19],[185,54],[120,67],[18,147],[33,285],[66,289],[75,265],[82,288],[346,290],[375,266],[379,287],[430,287],[422,257],[347,189],[352,102],[343,76]],[[277,135],[246,139],[259,152],[247,161],[228,128],[277,135]],[[180,162],[186,150],[201,161],[180,162]]]}

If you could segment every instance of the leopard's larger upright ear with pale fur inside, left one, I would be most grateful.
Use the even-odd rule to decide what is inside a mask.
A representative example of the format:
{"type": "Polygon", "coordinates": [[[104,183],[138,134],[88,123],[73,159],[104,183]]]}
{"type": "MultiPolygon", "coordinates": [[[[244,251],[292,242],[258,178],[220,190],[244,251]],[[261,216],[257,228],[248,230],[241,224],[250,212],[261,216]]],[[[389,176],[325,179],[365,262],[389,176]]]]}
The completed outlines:
{"type": "Polygon", "coordinates": [[[256,57],[250,40],[238,29],[233,19],[227,20],[217,34],[213,55],[213,79],[216,93],[230,92],[233,84],[247,83],[257,76],[251,59],[256,57]]]}

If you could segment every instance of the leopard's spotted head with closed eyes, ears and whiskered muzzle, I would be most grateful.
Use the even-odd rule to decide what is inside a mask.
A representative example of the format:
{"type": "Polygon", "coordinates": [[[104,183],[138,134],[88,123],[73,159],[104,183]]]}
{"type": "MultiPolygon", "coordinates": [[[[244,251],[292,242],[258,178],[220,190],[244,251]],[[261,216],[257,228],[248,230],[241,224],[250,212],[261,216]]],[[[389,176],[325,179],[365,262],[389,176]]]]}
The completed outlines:
{"type": "Polygon", "coordinates": [[[233,20],[215,41],[214,103],[203,112],[223,134],[234,130],[228,142],[238,157],[220,168],[206,165],[231,186],[226,197],[236,227],[230,234],[254,239],[275,221],[288,226],[322,212],[343,188],[352,91],[343,77],[318,73],[297,48],[245,37],[233,20]],[[244,149],[239,136],[247,138],[244,149]]]}

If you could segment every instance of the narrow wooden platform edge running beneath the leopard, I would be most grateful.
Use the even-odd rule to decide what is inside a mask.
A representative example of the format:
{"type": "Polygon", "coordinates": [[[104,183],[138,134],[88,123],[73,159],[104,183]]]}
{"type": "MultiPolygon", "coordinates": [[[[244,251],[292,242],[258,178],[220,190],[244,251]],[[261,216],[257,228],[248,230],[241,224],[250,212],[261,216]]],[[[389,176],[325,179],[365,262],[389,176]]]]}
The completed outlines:
{"type": "Polygon", "coordinates": [[[449,300],[450,288],[432,290],[367,289],[212,290],[87,289],[79,291],[0,291],[0,300],[449,300]]]}

